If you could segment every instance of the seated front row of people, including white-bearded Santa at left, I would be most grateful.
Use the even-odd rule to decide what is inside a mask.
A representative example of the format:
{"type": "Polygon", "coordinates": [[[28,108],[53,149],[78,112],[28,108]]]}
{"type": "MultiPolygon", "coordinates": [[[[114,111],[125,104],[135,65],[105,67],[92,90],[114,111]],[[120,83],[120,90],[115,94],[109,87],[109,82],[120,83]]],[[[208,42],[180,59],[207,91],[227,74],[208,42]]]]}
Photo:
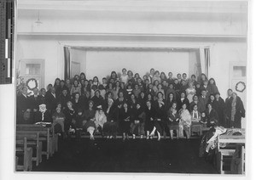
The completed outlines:
{"type": "Polygon", "coordinates": [[[148,100],[145,104],[136,103],[134,107],[127,101],[114,105],[113,99],[108,98],[108,105],[102,109],[102,105],[94,110],[94,102],[90,100],[88,110],[75,110],[71,101],[67,102],[67,108],[63,110],[58,104],[53,115],[50,115],[45,104],[39,105],[34,122],[51,122],[53,126],[59,125],[55,132],[65,135],[75,132],[79,137],[81,132],[89,132],[90,139],[94,139],[94,133],[101,133],[107,138],[116,137],[118,132],[123,134],[123,139],[135,138],[136,135],[143,138],[152,138],[157,133],[158,140],[164,131],[169,131],[171,139],[173,130],[177,138],[190,138],[190,127],[192,123],[210,127],[216,124],[218,115],[212,109],[212,104],[207,104],[206,112],[198,111],[197,104],[189,112],[187,104],[182,104],[182,109],[177,110],[177,103],[173,102],[172,107],[166,111],[165,104],[158,102],[154,104],[148,100]]]}

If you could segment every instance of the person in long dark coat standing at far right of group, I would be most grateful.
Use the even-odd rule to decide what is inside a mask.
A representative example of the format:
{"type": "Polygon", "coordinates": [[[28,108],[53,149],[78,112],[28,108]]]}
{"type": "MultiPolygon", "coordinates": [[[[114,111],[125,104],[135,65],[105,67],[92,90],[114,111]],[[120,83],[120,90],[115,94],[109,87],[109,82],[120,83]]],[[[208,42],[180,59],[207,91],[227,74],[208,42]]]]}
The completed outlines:
{"type": "Polygon", "coordinates": [[[241,98],[232,93],[227,104],[227,127],[241,128],[241,117],[245,117],[245,110],[241,98]]]}

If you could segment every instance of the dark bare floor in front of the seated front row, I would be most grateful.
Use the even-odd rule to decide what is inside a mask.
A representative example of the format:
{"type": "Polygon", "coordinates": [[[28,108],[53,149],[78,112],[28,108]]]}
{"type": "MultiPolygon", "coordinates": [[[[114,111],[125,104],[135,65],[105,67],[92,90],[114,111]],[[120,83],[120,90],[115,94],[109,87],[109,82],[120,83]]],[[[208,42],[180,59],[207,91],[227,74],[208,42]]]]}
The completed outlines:
{"type": "Polygon", "coordinates": [[[199,138],[62,140],[59,152],[33,171],[218,173],[198,157],[199,144],[199,138]]]}

